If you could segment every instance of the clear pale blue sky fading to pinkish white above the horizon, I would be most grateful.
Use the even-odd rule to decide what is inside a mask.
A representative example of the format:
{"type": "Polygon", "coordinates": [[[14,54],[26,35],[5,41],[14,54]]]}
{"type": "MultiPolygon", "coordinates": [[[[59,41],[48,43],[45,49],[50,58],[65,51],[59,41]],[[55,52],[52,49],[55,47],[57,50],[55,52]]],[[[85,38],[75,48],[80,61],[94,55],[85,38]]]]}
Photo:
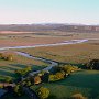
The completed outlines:
{"type": "Polygon", "coordinates": [[[99,0],[0,0],[0,24],[99,24],[99,0]]]}

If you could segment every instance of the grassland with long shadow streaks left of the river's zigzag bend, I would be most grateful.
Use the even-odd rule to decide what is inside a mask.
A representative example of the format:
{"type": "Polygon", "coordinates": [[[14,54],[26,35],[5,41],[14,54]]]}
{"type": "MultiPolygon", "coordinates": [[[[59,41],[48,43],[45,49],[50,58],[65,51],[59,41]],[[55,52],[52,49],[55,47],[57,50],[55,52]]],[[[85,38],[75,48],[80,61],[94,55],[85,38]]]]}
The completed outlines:
{"type": "Polygon", "coordinates": [[[14,70],[32,66],[33,70],[42,69],[48,64],[41,61],[30,59],[16,54],[13,54],[13,61],[0,59],[0,81],[4,81],[7,77],[15,79],[14,70]]]}

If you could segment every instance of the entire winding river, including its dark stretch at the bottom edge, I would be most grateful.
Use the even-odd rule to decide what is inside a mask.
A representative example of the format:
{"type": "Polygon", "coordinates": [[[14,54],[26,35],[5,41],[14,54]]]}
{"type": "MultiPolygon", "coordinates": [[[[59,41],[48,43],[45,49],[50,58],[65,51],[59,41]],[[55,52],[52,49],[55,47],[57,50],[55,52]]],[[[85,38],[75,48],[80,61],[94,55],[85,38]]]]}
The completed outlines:
{"type": "MultiPolygon", "coordinates": [[[[70,40],[70,41],[64,41],[62,43],[54,43],[54,44],[40,44],[40,45],[34,45],[34,46],[9,46],[9,47],[0,47],[0,51],[7,51],[7,50],[16,50],[16,48],[32,48],[32,47],[42,47],[42,46],[57,46],[57,45],[67,45],[67,44],[78,44],[78,43],[84,43],[84,42],[88,42],[89,40],[99,40],[99,38],[87,38],[87,40],[70,40]]],[[[18,55],[28,57],[28,58],[32,58],[32,59],[37,59],[37,61],[42,61],[45,63],[48,63],[50,66],[43,68],[42,70],[50,70],[52,69],[52,67],[57,66],[58,63],[51,61],[51,59],[46,59],[46,58],[42,58],[42,57],[35,57],[33,55],[30,55],[29,53],[24,53],[24,52],[16,52],[14,51],[14,53],[16,53],[18,55]]],[[[31,72],[28,76],[33,76],[35,74],[38,74],[41,70],[36,70],[36,72],[31,72]]],[[[24,77],[22,79],[25,79],[24,77]]],[[[28,94],[31,99],[38,99],[35,92],[31,92],[31,90],[26,87],[23,87],[25,94],[28,94]]]]}

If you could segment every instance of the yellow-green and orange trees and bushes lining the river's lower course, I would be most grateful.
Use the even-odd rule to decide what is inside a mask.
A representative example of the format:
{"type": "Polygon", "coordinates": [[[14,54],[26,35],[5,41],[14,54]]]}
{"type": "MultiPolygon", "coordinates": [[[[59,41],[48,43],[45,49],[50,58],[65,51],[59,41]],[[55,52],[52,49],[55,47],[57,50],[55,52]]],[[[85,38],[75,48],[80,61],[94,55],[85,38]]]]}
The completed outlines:
{"type": "MultiPolygon", "coordinates": [[[[41,82],[62,80],[68,75],[70,75],[70,73],[78,69],[79,68],[77,66],[64,65],[64,66],[53,67],[54,73],[47,72],[47,70],[41,70],[38,74],[35,74],[34,76],[30,76],[24,80],[22,80],[20,85],[16,85],[14,87],[14,92],[16,92],[18,96],[21,96],[22,86],[29,87],[30,89],[32,89],[32,86],[40,85],[41,82]]],[[[30,70],[31,70],[31,67],[26,67],[24,69],[15,70],[15,73],[18,75],[24,76],[30,70]]],[[[50,89],[44,87],[40,87],[35,92],[38,95],[40,99],[46,99],[50,96],[50,89]]]]}

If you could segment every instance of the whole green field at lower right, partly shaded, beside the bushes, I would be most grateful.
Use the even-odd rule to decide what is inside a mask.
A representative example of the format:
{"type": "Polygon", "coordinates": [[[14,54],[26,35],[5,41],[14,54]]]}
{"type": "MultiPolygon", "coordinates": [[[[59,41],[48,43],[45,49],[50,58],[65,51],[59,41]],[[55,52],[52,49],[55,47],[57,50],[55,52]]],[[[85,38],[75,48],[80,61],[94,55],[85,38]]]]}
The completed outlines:
{"type": "Polygon", "coordinates": [[[99,99],[99,72],[98,70],[81,70],[73,73],[64,80],[41,84],[40,86],[32,86],[34,90],[44,86],[50,88],[50,99],[67,99],[74,94],[81,92],[88,99],[99,99]]]}

